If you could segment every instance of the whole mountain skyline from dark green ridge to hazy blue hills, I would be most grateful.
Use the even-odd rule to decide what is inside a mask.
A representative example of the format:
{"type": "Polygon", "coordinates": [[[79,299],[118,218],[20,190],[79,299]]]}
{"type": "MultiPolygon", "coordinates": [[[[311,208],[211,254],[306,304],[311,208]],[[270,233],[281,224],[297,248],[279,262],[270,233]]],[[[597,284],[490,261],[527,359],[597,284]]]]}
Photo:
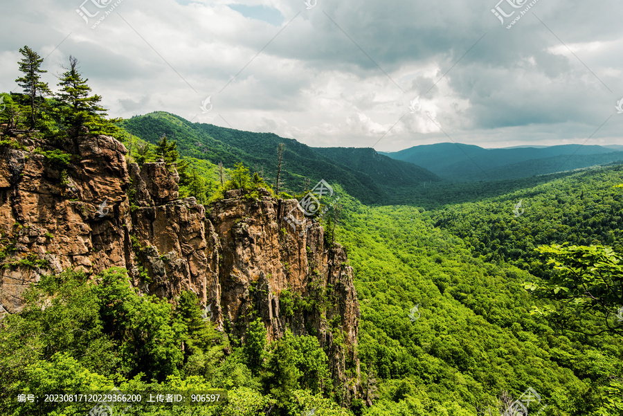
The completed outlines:
{"type": "MultiPolygon", "coordinates": [[[[304,179],[340,183],[364,204],[401,204],[422,196],[425,184],[442,181],[500,181],[565,172],[623,161],[622,145],[558,145],[485,149],[475,145],[437,143],[400,152],[376,152],[370,147],[309,147],[273,133],[254,133],[210,124],[190,123],[156,111],[123,120],[122,127],[149,143],[162,134],[177,141],[181,156],[242,162],[273,183],[279,143],[286,152],[281,190],[301,192],[304,179]]],[[[622,162],[623,163],[623,162],[622,162]]],[[[424,188],[426,189],[426,188],[424,188]]]]}

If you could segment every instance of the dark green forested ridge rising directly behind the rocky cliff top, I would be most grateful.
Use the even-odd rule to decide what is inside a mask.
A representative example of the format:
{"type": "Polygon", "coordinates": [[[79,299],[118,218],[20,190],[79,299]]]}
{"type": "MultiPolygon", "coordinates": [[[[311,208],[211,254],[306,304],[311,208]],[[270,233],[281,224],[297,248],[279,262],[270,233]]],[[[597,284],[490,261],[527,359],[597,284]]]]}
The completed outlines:
{"type": "Polygon", "coordinates": [[[325,179],[336,181],[357,199],[368,204],[388,204],[404,188],[417,186],[424,181],[437,181],[435,174],[409,163],[393,161],[369,150],[369,160],[351,163],[350,159],[336,158],[290,138],[272,133],[242,132],[209,124],[190,123],[179,116],[157,111],[145,116],[124,120],[121,126],[147,141],[156,143],[166,134],[177,142],[181,156],[205,159],[211,163],[223,162],[233,168],[237,162],[251,166],[267,177],[276,178],[276,150],[285,143],[282,189],[300,192],[304,180],[312,183],[325,179]]]}

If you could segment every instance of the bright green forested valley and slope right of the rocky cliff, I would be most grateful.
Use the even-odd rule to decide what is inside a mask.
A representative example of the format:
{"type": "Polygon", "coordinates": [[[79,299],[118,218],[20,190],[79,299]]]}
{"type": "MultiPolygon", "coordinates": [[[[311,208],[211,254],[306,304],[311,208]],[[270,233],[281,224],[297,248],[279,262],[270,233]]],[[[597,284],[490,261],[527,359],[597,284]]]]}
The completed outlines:
{"type": "Polygon", "coordinates": [[[622,415],[623,325],[613,316],[622,302],[622,169],[442,210],[343,201],[349,215],[338,239],[361,302],[362,384],[372,380],[365,394],[377,399],[368,415],[506,416],[528,387],[541,397],[529,415],[622,415]],[[535,251],[565,242],[607,244],[616,254],[600,246],[535,251]],[[574,290],[569,278],[554,280],[549,299],[532,296],[527,287],[552,282],[535,275],[562,275],[554,266],[586,275],[580,295],[604,300],[599,281],[618,295],[601,311],[582,296],[572,302],[562,295],[574,290]]]}

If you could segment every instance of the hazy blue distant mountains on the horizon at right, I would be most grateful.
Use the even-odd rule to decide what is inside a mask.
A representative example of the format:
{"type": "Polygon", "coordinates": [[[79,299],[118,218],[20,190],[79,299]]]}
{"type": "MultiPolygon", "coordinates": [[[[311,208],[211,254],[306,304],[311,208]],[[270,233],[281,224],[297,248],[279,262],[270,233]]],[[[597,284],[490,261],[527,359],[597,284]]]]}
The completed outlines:
{"type": "Polygon", "coordinates": [[[485,149],[462,143],[437,143],[379,153],[413,163],[443,179],[454,181],[519,179],[623,161],[622,145],[485,149]]]}

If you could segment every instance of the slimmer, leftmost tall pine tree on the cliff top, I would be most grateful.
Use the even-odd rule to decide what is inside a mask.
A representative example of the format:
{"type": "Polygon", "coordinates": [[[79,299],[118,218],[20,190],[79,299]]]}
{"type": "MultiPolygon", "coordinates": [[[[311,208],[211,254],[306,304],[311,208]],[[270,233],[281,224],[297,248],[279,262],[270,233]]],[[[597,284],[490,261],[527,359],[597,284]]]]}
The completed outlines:
{"type": "Polygon", "coordinates": [[[19,62],[19,71],[24,73],[23,77],[17,78],[15,82],[24,89],[26,96],[30,98],[30,129],[35,129],[37,123],[37,109],[41,105],[43,96],[50,95],[52,91],[48,87],[47,82],[41,80],[39,74],[46,73],[41,69],[41,64],[44,59],[39,56],[38,53],[24,46],[19,49],[19,53],[24,56],[24,59],[19,62]],[[39,100],[37,100],[39,95],[39,100]]]}

